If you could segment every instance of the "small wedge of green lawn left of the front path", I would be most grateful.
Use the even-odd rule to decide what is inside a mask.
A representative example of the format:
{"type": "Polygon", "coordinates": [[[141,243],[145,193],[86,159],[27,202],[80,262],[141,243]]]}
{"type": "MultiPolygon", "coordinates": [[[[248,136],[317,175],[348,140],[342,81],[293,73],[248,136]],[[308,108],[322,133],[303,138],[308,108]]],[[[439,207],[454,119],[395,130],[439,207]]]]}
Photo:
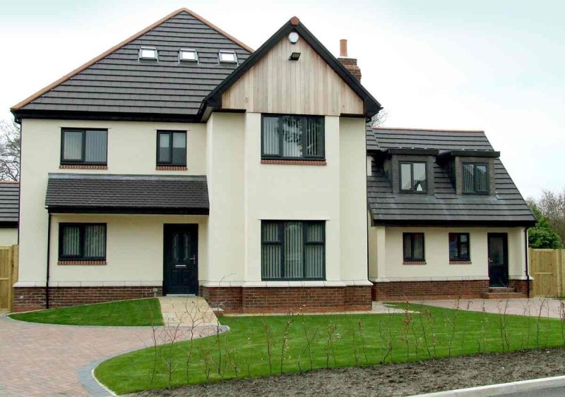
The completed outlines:
{"type": "Polygon", "coordinates": [[[157,298],[61,307],[60,309],[10,314],[9,317],[43,324],[113,326],[152,325],[152,322],[153,325],[163,324],[157,298]]]}

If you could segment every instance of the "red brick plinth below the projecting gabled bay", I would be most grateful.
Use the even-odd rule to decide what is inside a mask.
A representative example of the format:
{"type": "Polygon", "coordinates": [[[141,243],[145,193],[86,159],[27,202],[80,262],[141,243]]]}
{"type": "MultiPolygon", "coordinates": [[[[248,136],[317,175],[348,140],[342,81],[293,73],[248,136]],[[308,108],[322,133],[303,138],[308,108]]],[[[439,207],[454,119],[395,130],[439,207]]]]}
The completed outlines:
{"type": "Polygon", "coordinates": [[[224,312],[335,312],[370,310],[371,287],[201,287],[210,307],[224,312]]]}

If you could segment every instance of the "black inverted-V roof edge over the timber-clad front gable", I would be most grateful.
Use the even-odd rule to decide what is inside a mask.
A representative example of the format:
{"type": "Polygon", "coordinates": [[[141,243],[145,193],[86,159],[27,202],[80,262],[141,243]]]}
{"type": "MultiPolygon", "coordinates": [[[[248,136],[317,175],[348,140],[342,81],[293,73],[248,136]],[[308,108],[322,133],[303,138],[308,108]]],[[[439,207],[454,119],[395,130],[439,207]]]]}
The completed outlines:
{"type": "Polygon", "coordinates": [[[367,91],[350,71],[343,66],[338,59],[331,54],[326,47],[319,42],[314,35],[306,28],[306,26],[300,22],[297,17],[292,17],[285,23],[273,36],[271,36],[266,42],[261,45],[249,58],[242,63],[239,68],[234,71],[228,78],[222,81],[215,87],[215,89],[206,96],[203,102],[203,106],[210,106],[213,108],[221,108],[222,106],[222,94],[227,91],[239,78],[249,71],[251,66],[254,66],[265,54],[272,49],[275,44],[280,42],[283,37],[287,36],[290,32],[297,32],[302,39],[304,39],[310,47],[316,51],[319,56],[322,57],[326,63],[337,73],[340,78],[342,78],[345,83],[357,94],[364,102],[364,116],[371,117],[379,113],[382,109],[381,104],[367,91]]]}

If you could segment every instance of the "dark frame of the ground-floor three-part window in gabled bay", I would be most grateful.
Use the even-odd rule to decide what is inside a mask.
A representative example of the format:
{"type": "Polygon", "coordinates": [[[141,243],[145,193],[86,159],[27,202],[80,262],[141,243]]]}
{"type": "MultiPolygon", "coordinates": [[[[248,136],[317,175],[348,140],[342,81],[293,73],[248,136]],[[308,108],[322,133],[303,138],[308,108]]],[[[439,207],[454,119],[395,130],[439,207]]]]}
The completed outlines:
{"type": "Polygon", "coordinates": [[[280,278],[263,278],[263,255],[261,255],[261,281],[326,281],[326,221],[295,221],[295,220],[261,220],[261,252],[263,251],[263,245],[278,245],[280,247],[280,278]],[[304,259],[304,254],[302,255],[302,278],[287,278],[285,277],[285,233],[284,226],[289,222],[300,222],[302,224],[302,249],[307,245],[321,245],[323,247],[323,274],[321,277],[316,278],[306,278],[306,260],[304,259]],[[278,224],[278,241],[265,240],[265,234],[263,233],[263,223],[268,224],[278,224]],[[308,241],[306,233],[307,224],[323,224],[323,236],[322,241],[308,241]]]}

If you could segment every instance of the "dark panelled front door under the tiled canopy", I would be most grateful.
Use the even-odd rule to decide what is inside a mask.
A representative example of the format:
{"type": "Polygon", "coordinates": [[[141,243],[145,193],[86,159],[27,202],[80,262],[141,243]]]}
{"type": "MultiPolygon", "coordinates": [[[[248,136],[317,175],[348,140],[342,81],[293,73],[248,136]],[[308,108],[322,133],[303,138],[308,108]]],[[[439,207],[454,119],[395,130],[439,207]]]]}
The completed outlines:
{"type": "Polygon", "coordinates": [[[165,225],[165,294],[198,294],[198,225],[165,225]]]}

